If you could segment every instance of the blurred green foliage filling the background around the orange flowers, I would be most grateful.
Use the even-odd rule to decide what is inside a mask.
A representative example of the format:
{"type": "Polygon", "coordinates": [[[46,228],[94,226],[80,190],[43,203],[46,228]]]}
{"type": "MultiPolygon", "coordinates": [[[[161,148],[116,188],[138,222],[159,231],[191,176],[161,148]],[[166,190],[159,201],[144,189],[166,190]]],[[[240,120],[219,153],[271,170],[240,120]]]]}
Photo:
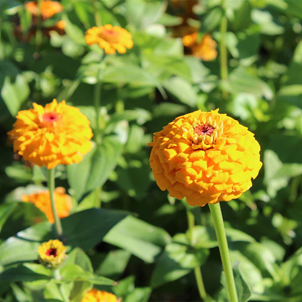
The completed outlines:
{"type": "Polygon", "coordinates": [[[248,192],[221,203],[240,301],[302,300],[302,2],[225,0],[223,81],[220,0],[60,3],[62,12],[37,21],[23,1],[0,2],[2,300],[60,300],[58,285],[29,263],[53,238],[51,225],[21,201],[46,186],[45,169],[14,155],[6,133],[19,110],[53,98],[79,107],[95,129],[97,81],[102,143],[80,164],[56,169],[56,185],[73,204],[62,219],[68,264],[91,274],[69,276],[64,290],[72,299],[79,300],[75,288],[94,283],[129,302],[199,300],[193,269],[201,265],[207,292],[226,300],[208,208],[190,208],[197,224],[190,245],[187,205],[157,187],[146,145],[175,117],[219,108],[255,133],[264,163],[248,192]],[[85,31],[101,24],[126,28],[133,48],[104,58],[97,45],[87,46],[85,31]],[[185,47],[192,33],[195,46],[204,35],[211,43],[185,47]],[[37,215],[45,221],[35,224],[37,215]],[[98,285],[99,276],[119,283],[98,285]]]}

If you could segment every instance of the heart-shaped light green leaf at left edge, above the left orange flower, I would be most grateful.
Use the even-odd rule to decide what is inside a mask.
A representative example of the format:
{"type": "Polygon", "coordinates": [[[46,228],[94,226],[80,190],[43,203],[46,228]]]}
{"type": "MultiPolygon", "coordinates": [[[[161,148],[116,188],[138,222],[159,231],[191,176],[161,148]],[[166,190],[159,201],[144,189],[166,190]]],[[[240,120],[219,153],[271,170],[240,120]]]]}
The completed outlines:
{"type": "Polygon", "coordinates": [[[22,74],[18,74],[16,80],[12,80],[9,76],[5,77],[1,89],[1,97],[12,116],[17,115],[22,103],[28,98],[29,93],[28,84],[22,74]]]}

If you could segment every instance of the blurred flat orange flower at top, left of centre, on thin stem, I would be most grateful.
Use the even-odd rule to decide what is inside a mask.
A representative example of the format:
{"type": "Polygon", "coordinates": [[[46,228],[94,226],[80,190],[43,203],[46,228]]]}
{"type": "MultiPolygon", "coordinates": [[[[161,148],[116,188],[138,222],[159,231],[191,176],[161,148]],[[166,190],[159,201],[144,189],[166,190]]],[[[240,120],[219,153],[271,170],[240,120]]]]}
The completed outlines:
{"type": "Polygon", "coordinates": [[[133,46],[131,34],[111,24],[90,28],[85,34],[85,39],[88,45],[99,44],[107,54],[115,53],[116,50],[119,53],[125,53],[126,48],[130,49],[133,46]]]}

